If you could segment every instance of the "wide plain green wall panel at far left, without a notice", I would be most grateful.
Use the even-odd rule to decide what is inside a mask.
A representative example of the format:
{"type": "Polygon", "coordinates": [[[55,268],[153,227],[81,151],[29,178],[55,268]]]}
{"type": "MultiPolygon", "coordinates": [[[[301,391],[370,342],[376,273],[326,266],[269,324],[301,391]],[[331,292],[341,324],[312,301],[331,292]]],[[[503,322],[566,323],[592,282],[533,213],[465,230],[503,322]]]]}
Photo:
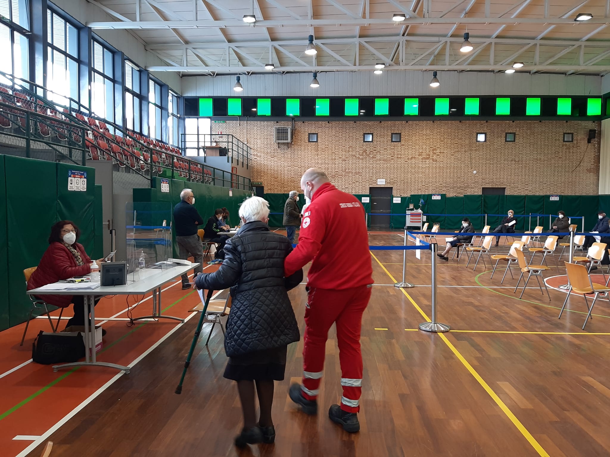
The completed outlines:
{"type": "MultiPolygon", "coordinates": [[[[38,265],[49,246],[47,240],[51,225],[59,221],[57,164],[10,155],[4,157],[4,164],[7,257],[10,266],[9,325],[12,327],[25,322],[32,307],[25,293],[23,270],[38,265]],[[25,178],[27,178],[27,200],[24,200],[25,178]]],[[[91,230],[91,227],[82,228],[84,232],[91,230]]]]}

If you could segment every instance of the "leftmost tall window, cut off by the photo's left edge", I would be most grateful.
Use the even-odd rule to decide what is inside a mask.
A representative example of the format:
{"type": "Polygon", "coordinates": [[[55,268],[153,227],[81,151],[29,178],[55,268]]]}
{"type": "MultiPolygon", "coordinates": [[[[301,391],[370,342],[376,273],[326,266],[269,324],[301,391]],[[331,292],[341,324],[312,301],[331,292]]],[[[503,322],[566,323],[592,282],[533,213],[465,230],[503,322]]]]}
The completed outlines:
{"type": "MultiPolygon", "coordinates": [[[[0,71],[29,79],[28,0],[0,0],[0,71]]],[[[11,83],[0,76],[0,82],[11,83]]]]}

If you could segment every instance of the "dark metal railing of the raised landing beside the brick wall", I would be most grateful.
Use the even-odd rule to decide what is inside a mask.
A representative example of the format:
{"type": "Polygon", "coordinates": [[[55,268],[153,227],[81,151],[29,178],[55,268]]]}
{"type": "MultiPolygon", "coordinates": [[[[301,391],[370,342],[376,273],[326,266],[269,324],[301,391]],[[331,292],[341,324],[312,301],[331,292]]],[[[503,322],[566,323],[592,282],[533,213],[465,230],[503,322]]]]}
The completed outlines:
{"type": "Polygon", "coordinates": [[[181,133],[180,149],[187,156],[227,157],[249,167],[250,147],[229,133],[181,133]]]}

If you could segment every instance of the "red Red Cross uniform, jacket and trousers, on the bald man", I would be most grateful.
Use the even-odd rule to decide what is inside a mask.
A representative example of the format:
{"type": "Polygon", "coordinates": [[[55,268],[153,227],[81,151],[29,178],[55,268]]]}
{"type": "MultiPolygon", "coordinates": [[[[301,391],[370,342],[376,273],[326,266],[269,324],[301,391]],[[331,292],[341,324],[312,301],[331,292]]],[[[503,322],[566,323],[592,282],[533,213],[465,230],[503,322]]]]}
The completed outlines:
{"type": "Polygon", "coordinates": [[[312,261],[307,273],[306,330],[303,349],[303,396],[317,397],[324,370],[328,330],[337,327],[343,397],[341,408],[360,409],[362,313],[368,305],[373,267],[368,252],[364,208],[353,195],[325,183],[303,214],[299,243],[286,257],[288,277],[312,261]]]}

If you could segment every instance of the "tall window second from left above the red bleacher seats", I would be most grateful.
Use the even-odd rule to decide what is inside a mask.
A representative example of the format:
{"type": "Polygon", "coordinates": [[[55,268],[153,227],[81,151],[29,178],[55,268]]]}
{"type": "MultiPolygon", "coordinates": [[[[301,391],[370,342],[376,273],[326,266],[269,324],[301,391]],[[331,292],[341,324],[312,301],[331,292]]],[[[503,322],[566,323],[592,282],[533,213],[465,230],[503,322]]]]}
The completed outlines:
{"type": "Polygon", "coordinates": [[[46,87],[52,92],[49,99],[62,105],[68,105],[70,97],[79,100],[78,79],[78,30],[47,10],[47,83],[46,87]]]}

